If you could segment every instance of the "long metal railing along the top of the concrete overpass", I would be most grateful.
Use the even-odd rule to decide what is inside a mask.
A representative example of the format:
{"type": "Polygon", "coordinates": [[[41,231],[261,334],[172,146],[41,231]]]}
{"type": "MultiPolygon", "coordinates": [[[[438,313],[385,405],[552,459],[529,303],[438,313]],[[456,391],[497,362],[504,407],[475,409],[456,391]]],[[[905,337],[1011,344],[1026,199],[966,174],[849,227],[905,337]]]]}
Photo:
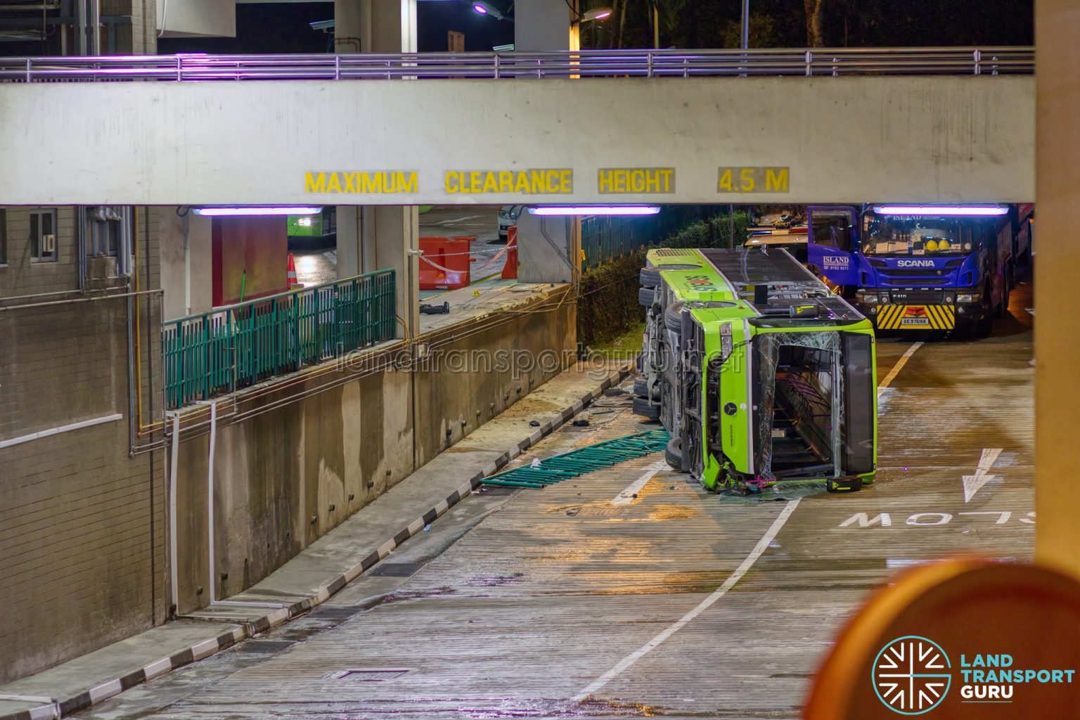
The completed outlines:
{"type": "Polygon", "coordinates": [[[995,76],[1034,71],[1035,49],[1021,46],[0,58],[0,81],[6,82],[995,76]]]}

